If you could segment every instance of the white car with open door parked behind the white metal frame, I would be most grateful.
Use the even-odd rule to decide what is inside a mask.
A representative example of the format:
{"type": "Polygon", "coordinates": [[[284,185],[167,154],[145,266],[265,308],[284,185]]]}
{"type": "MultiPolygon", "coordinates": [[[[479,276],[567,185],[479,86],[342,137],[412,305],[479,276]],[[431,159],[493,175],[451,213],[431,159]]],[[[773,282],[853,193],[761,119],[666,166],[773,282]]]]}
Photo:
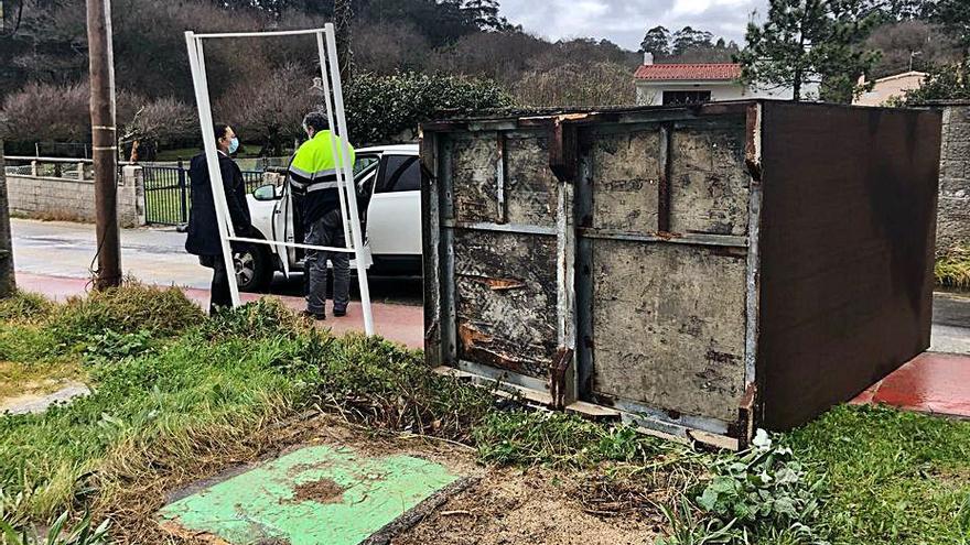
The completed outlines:
{"type": "MultiPolygon", "coordinates": [[[[381,274],[420,274],[421,166],[418,145],[357,150],[354,181],[370,270],[381,274]]],[[[302,242],[300,212],[294,210],[290,192],[283,190],[282,186],[263,185],[246,198],[256,230],[252,237],[302,242]]],[[[304,251],[300,249],[239,243],[234,244],[234,249],[236,279],[242,291],[266,291],[276,271],[289,277],[294,271],[303,270],[304,251]]]]}

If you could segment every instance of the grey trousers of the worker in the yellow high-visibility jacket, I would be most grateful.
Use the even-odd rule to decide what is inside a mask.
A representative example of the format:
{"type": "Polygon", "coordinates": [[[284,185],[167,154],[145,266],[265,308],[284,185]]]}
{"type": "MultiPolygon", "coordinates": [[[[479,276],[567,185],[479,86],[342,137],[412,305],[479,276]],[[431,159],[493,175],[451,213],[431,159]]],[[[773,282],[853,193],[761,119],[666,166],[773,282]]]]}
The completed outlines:
{"type": "MultiPolygon", "coordinates": [[[[306,243],[346,248],[341,209],[331,210],[306,227],[306,243]]],[[[326,314],[326,262],[334,270],[334,312],[346,312],[351,303],[351,255],[346,252],[306,250],[306,312],[326,314]]]]}

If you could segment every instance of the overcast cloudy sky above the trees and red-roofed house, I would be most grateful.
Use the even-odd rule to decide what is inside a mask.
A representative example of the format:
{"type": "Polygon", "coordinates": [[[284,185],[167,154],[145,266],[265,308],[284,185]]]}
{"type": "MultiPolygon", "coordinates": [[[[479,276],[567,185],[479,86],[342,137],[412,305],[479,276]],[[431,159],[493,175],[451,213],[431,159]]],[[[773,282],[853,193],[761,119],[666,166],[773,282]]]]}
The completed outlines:
{"type": "Polygon", "coordinates": [[[509,22],[551,40],[605,37],[638,50],[647,29],[671,32],[690,25],[744,43],[752,11],[766,11],[767,0],[500,0],[509,22]]]}

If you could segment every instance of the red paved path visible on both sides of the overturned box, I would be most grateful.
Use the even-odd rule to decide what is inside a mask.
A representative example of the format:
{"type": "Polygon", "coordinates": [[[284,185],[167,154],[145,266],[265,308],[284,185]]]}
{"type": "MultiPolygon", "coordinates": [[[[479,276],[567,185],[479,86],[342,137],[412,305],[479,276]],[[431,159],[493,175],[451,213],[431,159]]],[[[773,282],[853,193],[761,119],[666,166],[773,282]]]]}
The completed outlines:
{"type": "MultiPolygon", "coordinates": [[[[25,291],[42,293],[56,299],[83,294],[87,288],[87,281],[82,279],[22,272],[17,273],[17,283],[25,291]]],[[[184,288],[184,292],[203,307],[208,305],[207,290],[184,288]]],[[[255,301],[258,296],[244,294],[242,298],[255,301]]],[[[278,298],[293,309],[301,310],[304,307],[302,297],[278,298]]],[[[421,307],[376,303],[373,309],[378,335],[411,348],[422,348],[421,307]]],[[[332,328],[334,333],[362,330],[360,305],[352,304],[348,310],[344,318],[327,318],[325,327],[332,328]]],[[[912,411],[970,418],[970,356],[925,352],[870,386],[852,403],[886,403],[912,411]]]]}

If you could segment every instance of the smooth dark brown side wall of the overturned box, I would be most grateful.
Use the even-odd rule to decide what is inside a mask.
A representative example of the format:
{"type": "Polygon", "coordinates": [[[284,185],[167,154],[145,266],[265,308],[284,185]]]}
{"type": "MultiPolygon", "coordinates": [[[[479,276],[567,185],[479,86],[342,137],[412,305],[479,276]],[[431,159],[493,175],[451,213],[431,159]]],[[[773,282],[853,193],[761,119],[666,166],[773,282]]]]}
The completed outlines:
{"type": "Polygon", "coordinates": [[[800,425],[929,346],[940,117],[764,105],[764,424],[800,425]]]}

